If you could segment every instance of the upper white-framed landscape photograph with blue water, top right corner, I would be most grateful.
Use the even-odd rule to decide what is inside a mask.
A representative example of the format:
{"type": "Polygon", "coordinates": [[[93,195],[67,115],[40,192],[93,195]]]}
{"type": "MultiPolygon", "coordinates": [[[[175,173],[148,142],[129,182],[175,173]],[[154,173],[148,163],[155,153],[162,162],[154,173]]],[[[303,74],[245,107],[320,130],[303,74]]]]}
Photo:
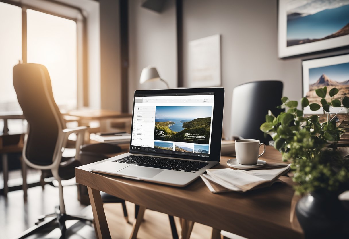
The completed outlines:
{"type": "Polygon", "coordinates": [[[349,0],[279,0],[279,57],[349,45],[349,0]]]}

